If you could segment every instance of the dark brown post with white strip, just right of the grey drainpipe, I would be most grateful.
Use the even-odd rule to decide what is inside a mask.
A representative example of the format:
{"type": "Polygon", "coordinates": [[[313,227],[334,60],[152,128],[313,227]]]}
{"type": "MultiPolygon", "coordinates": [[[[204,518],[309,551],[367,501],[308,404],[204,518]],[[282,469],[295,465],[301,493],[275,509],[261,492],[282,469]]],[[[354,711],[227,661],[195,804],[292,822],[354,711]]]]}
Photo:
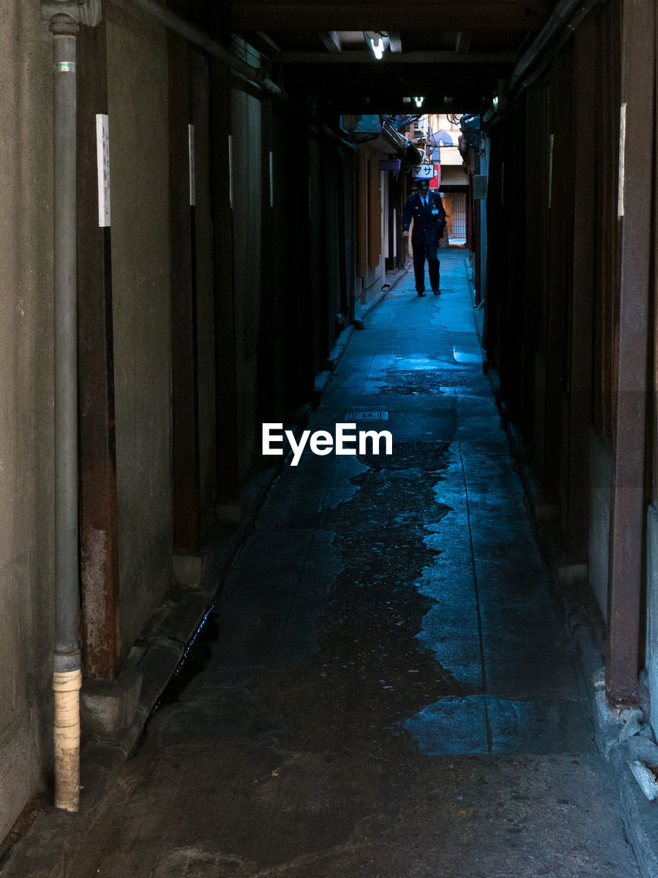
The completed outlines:
{"type": "MultiPolygon", "coordinates": [[[[109,225],[99,225],[97,182],[97,114],[107,119],[108,112],[105,22],[82,28],[77,43],[82,667],[86,678],[113,680],[119,670],[121,629],[111,233],[109,225]]],[[[104,124],[101,119],[101,136],[104,124]]]]}

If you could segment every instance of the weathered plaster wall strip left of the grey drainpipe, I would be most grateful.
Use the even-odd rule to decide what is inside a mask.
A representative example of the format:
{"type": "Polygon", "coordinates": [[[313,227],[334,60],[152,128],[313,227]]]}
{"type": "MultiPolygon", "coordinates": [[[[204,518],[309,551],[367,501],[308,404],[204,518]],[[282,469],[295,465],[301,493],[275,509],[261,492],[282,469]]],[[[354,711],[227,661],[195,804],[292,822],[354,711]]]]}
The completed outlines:
{"type": "Polygon", "coordinates": [[[52,38],[36,0],[3,13],[0,838],[48,771],[54,613],[52,38]]]}

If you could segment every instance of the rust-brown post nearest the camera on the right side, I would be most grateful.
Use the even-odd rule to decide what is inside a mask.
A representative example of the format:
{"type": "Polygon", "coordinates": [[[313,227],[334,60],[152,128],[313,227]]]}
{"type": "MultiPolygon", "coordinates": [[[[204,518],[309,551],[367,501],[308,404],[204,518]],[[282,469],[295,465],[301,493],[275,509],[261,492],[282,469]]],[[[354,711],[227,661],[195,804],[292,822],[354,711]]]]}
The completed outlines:
{"type": "Polygon", "coordinates": [[[622,83],[626,139],[619,163],[621,276],[616,339],[613,458],[608,566],[605,689],[624,702],[637,686],[644,558],[647,317],[652,276],[651,181],[654,170],[654,16],[652,4],[626,0],[622,19],[622,83]],[[620,175],[621,176],[621,175],[620,175]],[[621,205],[623,205],[623,210],[621,205]]]}

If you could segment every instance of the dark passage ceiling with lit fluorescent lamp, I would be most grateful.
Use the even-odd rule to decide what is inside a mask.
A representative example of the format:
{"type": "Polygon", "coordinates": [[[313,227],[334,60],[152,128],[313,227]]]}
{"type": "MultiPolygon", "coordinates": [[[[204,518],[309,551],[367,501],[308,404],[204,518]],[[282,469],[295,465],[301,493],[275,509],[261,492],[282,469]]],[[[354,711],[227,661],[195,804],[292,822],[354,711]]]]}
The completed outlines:
{"type": "Polygon", "coordinates": [[[232,0],[231,30],[286,90],[340,112],[477,112],[546,23],[552,0],[232,0]],[[367,40],[383,40],[383,57],[367,40]]]}

